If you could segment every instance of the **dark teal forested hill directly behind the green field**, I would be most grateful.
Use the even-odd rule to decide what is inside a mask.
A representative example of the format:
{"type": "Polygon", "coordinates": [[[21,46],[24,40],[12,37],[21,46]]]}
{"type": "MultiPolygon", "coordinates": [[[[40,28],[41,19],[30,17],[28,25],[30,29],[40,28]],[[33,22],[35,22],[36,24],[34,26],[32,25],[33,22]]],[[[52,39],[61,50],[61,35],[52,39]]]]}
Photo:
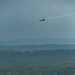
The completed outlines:
{"type": "Polygon", "coordinates": [[[0,51],[0,63],[75,63],[75,50],[0,51]]]}

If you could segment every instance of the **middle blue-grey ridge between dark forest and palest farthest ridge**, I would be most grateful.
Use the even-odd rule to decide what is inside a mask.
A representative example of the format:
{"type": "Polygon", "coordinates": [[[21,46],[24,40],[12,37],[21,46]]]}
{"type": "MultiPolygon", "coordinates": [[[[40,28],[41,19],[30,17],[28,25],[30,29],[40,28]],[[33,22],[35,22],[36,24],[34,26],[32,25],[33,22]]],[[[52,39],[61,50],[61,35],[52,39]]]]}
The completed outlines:
{"type": "Polygon", "coordinates": [[[42,44],[42,45],[17,45],[17,46],[0,45],[0,50],[34,51],[34,50],[57,50],[57,49],[75,49],[75,44],[42,44]]]}

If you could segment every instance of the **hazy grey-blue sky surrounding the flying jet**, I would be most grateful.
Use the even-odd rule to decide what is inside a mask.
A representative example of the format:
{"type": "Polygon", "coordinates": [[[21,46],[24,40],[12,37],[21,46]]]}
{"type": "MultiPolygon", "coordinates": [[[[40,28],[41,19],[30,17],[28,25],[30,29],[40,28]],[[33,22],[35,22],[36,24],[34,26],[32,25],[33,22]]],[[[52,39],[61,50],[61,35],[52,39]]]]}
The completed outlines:
{"type": "Polygon", "coordinates": [[[0,41],[75,38],[75,14],[50,19],[70,13],[75,0],[0,0],[0,41]]]}

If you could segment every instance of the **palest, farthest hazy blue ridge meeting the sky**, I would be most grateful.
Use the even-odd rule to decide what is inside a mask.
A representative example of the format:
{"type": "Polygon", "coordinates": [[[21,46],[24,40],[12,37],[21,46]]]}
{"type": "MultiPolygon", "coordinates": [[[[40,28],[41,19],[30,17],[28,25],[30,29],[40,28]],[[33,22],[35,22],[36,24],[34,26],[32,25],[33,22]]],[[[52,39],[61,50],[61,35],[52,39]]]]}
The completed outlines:
{"type": "Polygon", "coordinates": [[[40,45],[40,44],[75,44],[75,38],[45,38],[45,39],[19,39],[0,41],[0,45],[40,45]]]}

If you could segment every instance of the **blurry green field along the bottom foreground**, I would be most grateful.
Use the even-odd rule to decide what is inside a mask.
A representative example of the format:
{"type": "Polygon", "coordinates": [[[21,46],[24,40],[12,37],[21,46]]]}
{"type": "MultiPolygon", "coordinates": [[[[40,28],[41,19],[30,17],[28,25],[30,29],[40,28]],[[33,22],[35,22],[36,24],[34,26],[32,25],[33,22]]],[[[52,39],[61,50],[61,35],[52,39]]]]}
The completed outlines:
{"type": "Polygon", "coordinates": [[[75,75],[75,63],[5,64],[0,75],[75,75]]]}

